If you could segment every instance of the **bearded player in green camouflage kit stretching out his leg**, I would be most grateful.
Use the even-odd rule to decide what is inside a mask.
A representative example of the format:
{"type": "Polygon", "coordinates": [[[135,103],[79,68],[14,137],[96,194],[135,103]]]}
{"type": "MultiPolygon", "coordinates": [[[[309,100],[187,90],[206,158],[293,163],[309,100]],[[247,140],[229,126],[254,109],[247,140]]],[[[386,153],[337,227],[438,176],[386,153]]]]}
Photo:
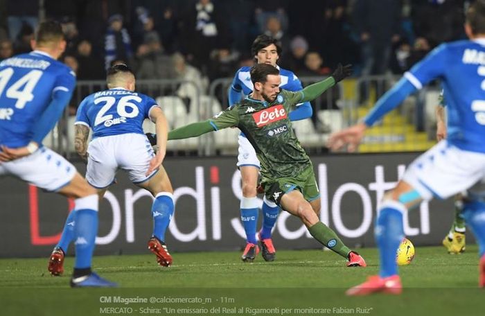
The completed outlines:
{"type": "Polygon", "coordinates": [[[197,137],[222,128],[239,128],[256,150],[261,162],[261,184],[266,198],[301,219],[322,245],[348,260],[347,266],[365,267],[364,258],[351,251],[335,232],[320,222],[318,191],[312,162],[301,147],[288,113],[299,103],[314,100],[326,89],[351,74],[351,66],[340,64],[326,80],[300,91],[281,90],[279,70],[270,64],[256,64],[251,71],[252,94],[215,115],[168,133],[168,139],[197,137]]]}

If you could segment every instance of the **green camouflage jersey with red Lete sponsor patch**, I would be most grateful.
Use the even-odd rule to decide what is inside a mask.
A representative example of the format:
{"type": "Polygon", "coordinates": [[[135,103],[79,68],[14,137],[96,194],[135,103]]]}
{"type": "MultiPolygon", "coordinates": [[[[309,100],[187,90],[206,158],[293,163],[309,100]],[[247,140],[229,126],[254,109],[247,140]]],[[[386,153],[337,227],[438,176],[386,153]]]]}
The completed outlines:
{"type": "Polygon", "coordinates": [[[296,177],[311,166],[288,117],[302,98],[301,91],[287,90],[281,90],[272,103],[247,96],[209,121],[215,130],[236,126],[245,134],[256,150],[263,177],[296,177]]]}

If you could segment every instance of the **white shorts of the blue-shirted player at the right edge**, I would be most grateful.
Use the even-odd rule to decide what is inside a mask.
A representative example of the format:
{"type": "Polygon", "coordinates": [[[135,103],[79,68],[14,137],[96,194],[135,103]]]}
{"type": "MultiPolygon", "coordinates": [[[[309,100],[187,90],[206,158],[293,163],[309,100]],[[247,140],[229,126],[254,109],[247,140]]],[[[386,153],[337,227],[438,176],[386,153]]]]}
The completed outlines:
{"type": "Polygon", "coordinates": [[[424,200],[446,199],[465,191],[485,176],[485,154],[461,150],[446,140],[419,156],[403,180],[424,200]]]}

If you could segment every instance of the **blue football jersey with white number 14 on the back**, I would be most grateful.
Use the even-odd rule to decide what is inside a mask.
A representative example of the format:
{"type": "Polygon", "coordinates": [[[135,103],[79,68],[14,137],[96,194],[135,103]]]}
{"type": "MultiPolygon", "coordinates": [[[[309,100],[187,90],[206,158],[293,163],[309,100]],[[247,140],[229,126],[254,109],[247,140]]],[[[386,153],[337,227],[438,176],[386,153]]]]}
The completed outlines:
{"type": "Polygon", "coordinates": [[[73,71],[41,51],[0,62],[0,144],[26,146],[53,95],[66,93],[70,97],[75,86],[73,71]]]}

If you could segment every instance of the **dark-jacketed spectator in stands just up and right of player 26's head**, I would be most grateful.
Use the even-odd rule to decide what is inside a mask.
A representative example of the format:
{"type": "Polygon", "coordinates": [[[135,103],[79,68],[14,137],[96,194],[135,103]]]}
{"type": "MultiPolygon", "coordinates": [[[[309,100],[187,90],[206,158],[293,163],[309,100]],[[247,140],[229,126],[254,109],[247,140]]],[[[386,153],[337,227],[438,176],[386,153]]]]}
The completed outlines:
{"type": "Polygon", "coordinates": [[[145,34],[134,64],[138,79],[173,79],[177,76],[172,57],[165,53],[157,33],[145,34]]]}

